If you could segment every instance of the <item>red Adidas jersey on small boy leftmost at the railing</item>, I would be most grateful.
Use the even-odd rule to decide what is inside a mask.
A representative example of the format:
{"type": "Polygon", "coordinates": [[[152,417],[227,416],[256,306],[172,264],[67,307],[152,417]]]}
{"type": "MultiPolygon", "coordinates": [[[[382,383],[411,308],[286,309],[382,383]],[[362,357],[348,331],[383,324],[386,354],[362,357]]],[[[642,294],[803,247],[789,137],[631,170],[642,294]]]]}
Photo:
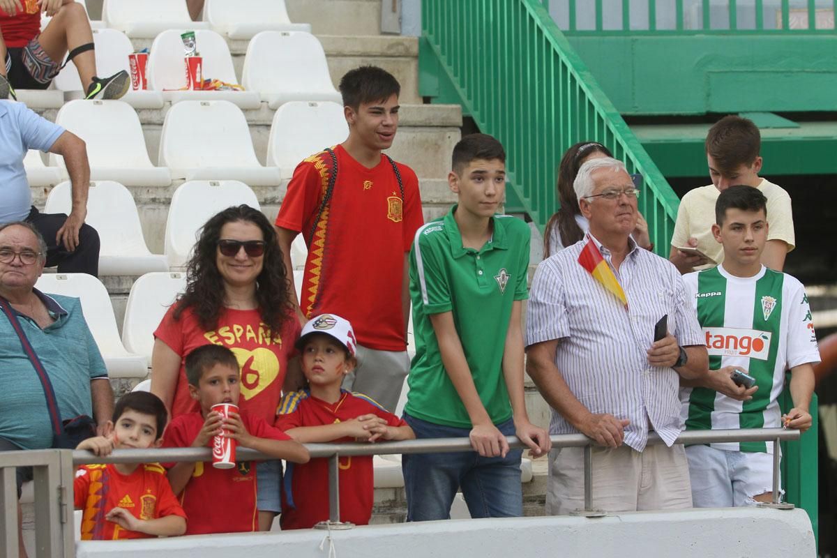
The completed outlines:
{"type": "MultiPolygon", "coordinates": [[[[141,463],[133,473],[121,474],[112,464],[82,465],[75,472],[73,492],[76,509],[83,509],[81,540],[148,539],[137,531],[122,529],[105,515],[114,508],[125,508],[140,520],[156,520],[168,515],[186,518],[166,469],[159,463],[141,463]]],[[[187,522],[188,523],[188,522],[187,522]]]]}

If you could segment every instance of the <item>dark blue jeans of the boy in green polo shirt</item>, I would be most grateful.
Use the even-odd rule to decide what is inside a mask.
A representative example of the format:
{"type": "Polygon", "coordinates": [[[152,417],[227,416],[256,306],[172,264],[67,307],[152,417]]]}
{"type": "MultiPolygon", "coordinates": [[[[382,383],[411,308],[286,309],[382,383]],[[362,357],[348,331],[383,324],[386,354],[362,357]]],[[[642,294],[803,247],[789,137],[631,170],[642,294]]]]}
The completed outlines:
{"type": "MultiPolygon", "coordinates": [[[[468,438],[470,428],[434,424],[404,413],[416,438],[468,438]]],[[[509,419],[496,425],[506,436],[515,433],[509,419]]],[[[522,449],[505,458],[483,458],[472,451],[457,453],[408,453],[401,461],[407,493],[407,520],[449,520],[450,506],[461,487],[471,517],[520,517],[522,449]]]]}

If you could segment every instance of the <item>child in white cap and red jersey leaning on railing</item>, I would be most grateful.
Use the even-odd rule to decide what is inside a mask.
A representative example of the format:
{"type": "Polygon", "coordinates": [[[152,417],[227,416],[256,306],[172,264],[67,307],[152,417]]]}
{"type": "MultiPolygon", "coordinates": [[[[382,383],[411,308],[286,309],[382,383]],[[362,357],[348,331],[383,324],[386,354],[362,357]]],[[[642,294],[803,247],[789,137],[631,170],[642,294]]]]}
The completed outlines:
{"type": "MultiPolygon", "coordinates": [[[[357,364],[352,325],[337,315],[309,321],[296,343],[309,388],[285,395],[276,427],[302,443],[408,440],[413,430],[360,393],[341,390],[343,376],[357,364]]],[[[328,460],[291,464],[282,484],[283,530],[310,529],[328,520],[328,460]]],[[[372,456],[340,459],[340,519],[367,525],[372,515],[372,456]]]]}

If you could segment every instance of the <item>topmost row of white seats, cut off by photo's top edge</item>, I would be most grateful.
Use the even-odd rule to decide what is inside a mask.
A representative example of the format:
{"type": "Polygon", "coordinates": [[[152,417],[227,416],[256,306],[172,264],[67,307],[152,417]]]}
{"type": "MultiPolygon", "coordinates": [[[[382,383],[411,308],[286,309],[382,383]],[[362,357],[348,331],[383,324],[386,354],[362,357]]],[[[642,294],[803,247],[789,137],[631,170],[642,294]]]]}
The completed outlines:
{"type": "MultiPolygon", "coordinates": [[[[85,0],[76,3],[87,5],[85,0]]],[[[49,22],[44,18],[43,25],[49,22]]],[[[131,38],[153,38],[168,28],[213,29],[234,39],[247,39],[261,31],[311,31],[309,23],[291,23],[285,0],[205,0],[203,22],[193,22],[185,0],[105,0],[102,20],[94,29],[114,28],[131,38]]]]}

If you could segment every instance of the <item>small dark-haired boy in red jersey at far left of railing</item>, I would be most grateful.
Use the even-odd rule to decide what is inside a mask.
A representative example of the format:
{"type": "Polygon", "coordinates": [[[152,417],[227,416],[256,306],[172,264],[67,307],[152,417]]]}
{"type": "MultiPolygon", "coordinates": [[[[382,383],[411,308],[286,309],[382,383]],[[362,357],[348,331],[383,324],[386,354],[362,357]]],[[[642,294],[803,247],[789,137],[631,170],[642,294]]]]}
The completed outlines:
{"type": "MultiPolygon", "coordinates": [[[[105,436],[89,438],[76,449],[98,456],[113,448],[159,448],[166,427],[166,406],[148,392],[131,392],[116,402],[105,436]]],[[[73,482],[75,509],[84,509],[82,540],[142,539],[182,535],[186,514],[172,493],[166,469],[158,463],[83,465],[73,482]]]]}

